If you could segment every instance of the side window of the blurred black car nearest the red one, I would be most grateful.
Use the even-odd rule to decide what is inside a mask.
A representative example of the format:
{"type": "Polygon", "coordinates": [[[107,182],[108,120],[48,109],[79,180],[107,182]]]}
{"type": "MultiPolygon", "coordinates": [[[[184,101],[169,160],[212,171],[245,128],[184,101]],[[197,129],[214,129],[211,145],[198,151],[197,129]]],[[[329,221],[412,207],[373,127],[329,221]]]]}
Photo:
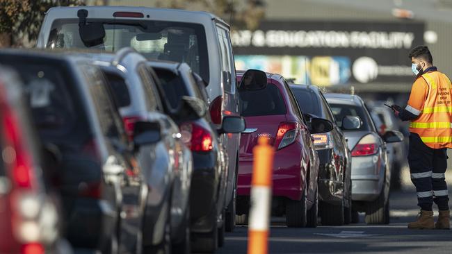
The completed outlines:
{"type": "Polygon", "coordinates": [[[102,72],[97,67],[83,65],[91,99],[94,102],[102,134],[127,142],[118,109],[111,99],[110,90],[106,86],[102,72]]]}

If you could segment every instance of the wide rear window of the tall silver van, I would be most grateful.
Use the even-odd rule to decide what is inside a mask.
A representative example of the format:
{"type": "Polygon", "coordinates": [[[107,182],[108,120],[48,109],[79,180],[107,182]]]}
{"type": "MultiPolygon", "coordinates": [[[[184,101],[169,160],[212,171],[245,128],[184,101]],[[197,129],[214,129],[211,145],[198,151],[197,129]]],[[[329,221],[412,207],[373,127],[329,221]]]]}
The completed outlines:
{"type": "Polygon", "coordinates": [[[104,26],[102,44],[83,44],[78,19],[56,19],[46,47],[114,52],[130,46],[150,60],[186,62],[209,82],[207,41],[201,24],[126,19],[90,19],[90,22],[99,22],[104,26]]]}

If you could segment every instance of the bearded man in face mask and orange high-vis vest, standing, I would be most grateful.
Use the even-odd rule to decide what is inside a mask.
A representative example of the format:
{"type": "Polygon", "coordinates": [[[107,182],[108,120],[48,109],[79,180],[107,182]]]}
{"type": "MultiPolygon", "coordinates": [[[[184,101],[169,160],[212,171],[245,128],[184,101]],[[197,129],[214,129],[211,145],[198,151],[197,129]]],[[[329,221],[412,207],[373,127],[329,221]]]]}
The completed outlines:
{"type": "Polygon", "coordinates": [[[444,173],[446,149],[452,148],[452,88],[449,78],[433,66],[427,46],[410,51],[416,81],[405,109],[393,108],[403,121],[410,121],[408,164],[421,212],[412,229],[449,229],[449,196],[444,173]],[[433,219],[433,202],[439,216],[433,219]]]}

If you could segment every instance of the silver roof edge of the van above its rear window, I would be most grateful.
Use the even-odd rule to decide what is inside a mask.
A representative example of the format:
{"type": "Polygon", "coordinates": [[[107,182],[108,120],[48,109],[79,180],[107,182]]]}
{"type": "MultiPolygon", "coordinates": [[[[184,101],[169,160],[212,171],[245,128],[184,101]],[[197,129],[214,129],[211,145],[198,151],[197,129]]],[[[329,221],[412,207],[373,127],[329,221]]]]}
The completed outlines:
{"type": "MultiPolygon", "coordinates": [[[[213,15],[210,12],[204,12],[204,11],[193,11],[193,10],[180,10],[180,9],[170,9],[170,8],[150,8],[150,7],[144,7],[144,6],[72,6],[72,7],[66,7],[66,6],[60,6],[60,7],[52,7],[47,11],[47,14],[50,16],[55,17],[70,17],[67,16],[67,12],[73,13],[74,10],[88,10],[88,19],[90,18],[90,10],[93,12],[96,12],[97,15],[99,15],[99,10],[104,10],[103,14],[106,14],[106,12],[111,12],[109,15],[111,15],[111,18],[113,19],[113,12],[141,12],[143,15],[145,15],[144,20],[146,19],[165,19],[170,20],[174,22],[187,22],[188,20],[196,21],[193,23],[204,23],[207,21],[214,20],[216,22],[219,22],[223,24],[224,26],[227,26],[229,28],[229,24],[225,22],[220,17],[213,15]]],[[[114,17],[115,19],[122,19],[121,17],[114,17]]],[[[131,18],[127,17],[124,19],[143,19],[143,18],[131,18]]]]}

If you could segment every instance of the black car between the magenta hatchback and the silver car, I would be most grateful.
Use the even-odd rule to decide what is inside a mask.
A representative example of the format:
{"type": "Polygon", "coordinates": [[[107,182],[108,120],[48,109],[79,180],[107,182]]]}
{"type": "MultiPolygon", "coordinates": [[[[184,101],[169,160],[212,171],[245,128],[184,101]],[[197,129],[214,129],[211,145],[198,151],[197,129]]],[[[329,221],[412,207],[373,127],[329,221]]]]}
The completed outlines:
{"type": "Polygon", "coordinates": [[[351,221],[351,155],[343,131],[334,119],[321,90],[315,85],[290,85],[300,110],[312,117],[328,119],[334,128],[313,134],[320,159],[318,169],[319,214],[322,225],[342,225],[351,221]]]}

